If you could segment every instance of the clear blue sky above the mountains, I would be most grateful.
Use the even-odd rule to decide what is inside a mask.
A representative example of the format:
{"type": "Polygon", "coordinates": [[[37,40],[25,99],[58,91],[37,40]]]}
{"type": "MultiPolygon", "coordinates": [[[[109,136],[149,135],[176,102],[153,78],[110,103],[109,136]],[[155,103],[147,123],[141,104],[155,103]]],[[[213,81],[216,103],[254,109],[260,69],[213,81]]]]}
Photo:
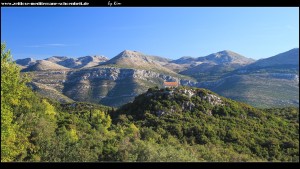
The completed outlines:
{"type": "Polygon", "coordinates": [[[171,59],[231,50],[260,59],[299,47],[298,7],[2,7],[1,42],[14,59],[116,56],[171,59]]]}

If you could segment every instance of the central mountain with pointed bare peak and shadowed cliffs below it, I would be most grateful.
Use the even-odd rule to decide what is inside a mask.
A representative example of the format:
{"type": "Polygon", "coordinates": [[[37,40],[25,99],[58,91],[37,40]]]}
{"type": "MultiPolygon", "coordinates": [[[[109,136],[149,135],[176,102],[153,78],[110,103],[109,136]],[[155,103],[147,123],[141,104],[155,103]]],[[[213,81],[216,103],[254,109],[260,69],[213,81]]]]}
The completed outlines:
{"type": "MultiPolygon", "coordinates": [[[[149,87],[162,87],[164,81],[179,81],[182,85],[196,83],[190,77],[163,67],[170,60],[157,56],[125,50],[98,66],[82,66],[83,63],[87,63],[84,60],[89,58],[55,56],[37,61],[48,63],[47,68],[40,68],[40,64],[36,63],[23,69],[23,72],[32,72],[32,86],[43,95],[62,102],[87,101],[117,107],[132,101],[149,87]],[[77,64],[79,61],[81,65],[77,64]],[[58,64],[66,67],[59,67],[58,64]]],[[[91,65],[91,62],[85,65],[91,65]]]]}

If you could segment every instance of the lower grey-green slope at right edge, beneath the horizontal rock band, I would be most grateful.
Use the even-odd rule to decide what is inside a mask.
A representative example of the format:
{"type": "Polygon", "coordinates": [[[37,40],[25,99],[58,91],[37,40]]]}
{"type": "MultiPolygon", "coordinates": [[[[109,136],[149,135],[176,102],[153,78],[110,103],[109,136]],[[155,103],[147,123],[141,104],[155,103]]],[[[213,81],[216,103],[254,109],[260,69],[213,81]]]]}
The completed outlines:
{"type": "Polygon", "coordinates": [[[256,107],[299,106],[297,74],[239,74],[197,86],[256,107]]]}

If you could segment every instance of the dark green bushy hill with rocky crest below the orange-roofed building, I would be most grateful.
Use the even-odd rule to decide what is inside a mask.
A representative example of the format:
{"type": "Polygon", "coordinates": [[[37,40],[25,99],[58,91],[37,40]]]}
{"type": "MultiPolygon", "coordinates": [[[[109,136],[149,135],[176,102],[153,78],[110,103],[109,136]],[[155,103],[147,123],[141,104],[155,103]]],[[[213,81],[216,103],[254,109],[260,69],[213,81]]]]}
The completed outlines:
{"type": "Polygon", "coordinates": [[[142,139],[174,140],[205,161],[299,161],[299,109],[256,109],[209,90],[151,88],[114,113],[142,139]]]}

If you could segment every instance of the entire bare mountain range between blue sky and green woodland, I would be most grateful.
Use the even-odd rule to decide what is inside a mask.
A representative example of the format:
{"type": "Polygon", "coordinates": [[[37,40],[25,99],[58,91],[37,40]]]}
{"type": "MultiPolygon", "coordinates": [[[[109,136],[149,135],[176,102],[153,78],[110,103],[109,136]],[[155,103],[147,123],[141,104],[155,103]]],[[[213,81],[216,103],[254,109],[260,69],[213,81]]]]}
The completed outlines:
{"type": "Polygon", "coordinates": [[[61,102],[119,107],[150,87],[178,81],[256,107],[299,106],[299,48],[257,61],[229,50],[177,60],[124,50],[111,59],[53,56],[16,63],[32,72],[33,89],[61,102]]]}

